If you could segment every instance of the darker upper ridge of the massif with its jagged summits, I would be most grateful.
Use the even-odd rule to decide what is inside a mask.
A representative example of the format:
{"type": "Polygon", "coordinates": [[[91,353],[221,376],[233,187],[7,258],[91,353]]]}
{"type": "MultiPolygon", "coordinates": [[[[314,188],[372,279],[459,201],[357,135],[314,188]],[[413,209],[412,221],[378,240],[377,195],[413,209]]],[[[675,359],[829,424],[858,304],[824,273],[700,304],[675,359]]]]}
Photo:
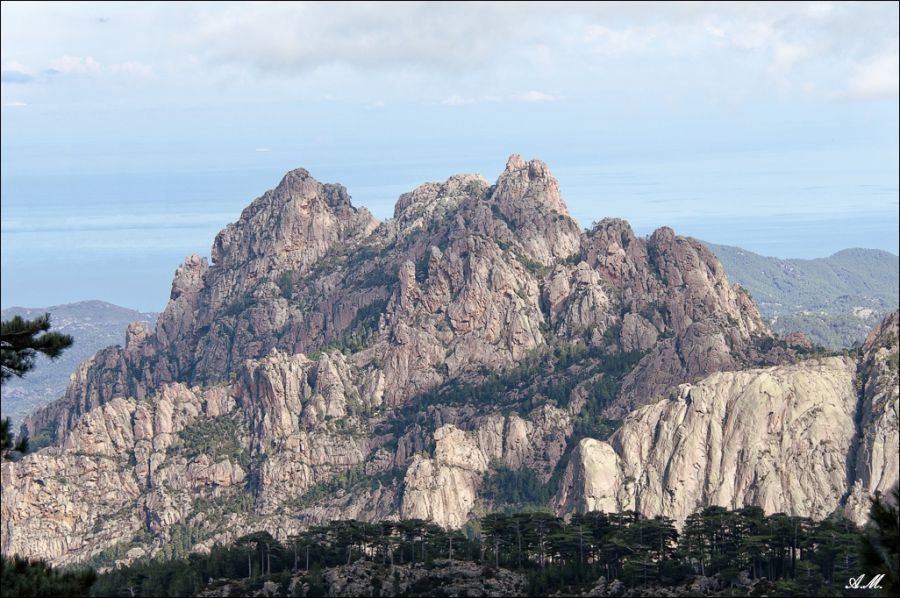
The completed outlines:
{"type": "Polygon", "coordinates": [[[364,345],[400,405],[448,380],[519,362],[561,338],[614,339],[648,355],[607,407],[622,417],[675,384],[789,356],[702,245],[662,228],[638,239],[604,220],[582,233],[547,165],[512,156],[496,184],[477,175],[400,197],[383,224],[340,185],[298,169],[188,257],[153,334],[83,365],[32,431],[59,437],[77,416],[161,385],[221,384],[245,359],[364,345]]]}

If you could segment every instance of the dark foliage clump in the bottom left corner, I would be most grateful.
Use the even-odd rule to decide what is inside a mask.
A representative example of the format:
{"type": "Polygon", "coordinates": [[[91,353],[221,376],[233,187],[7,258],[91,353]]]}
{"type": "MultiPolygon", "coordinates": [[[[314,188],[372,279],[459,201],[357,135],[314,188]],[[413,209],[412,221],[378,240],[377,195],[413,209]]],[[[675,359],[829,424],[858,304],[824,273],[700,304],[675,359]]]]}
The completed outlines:
{"type": "Polygon", "coordinates": [[[93,570],[60,571],[44,561],[3,557],[0,587],[3,596],[88,596],[97,579],[93,570]]]}

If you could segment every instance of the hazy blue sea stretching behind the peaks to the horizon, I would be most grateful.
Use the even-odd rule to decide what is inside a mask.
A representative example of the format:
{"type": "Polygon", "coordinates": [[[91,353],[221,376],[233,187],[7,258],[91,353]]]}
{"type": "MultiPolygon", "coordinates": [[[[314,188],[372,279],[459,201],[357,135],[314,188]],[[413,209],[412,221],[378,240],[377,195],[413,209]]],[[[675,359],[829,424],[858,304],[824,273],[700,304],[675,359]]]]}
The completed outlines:
{"type": "MultiPolygon", "coordinates": [[[[449,161],[304,163],[290,152],[256,154],[249,166],[220,170],[20,173],[5,166],[2,307],[101,299],[161,311],[184,257],[208,257],[218,231],[291,168],[345,185],[355,206],[385,220],[401,193],[459,172],[493,181],[507,158],[482,152],[449,161]]],[[[866,172],[798,176],[778,167],[785,156],[771,152],[607,163],[522,154],[548,163],[583,228],[624,218],[640,236],[670,226],[679,235],[782,259],[849,248],[895,253],[900,243],[891,173],[869,182],[866,172]]]]}

